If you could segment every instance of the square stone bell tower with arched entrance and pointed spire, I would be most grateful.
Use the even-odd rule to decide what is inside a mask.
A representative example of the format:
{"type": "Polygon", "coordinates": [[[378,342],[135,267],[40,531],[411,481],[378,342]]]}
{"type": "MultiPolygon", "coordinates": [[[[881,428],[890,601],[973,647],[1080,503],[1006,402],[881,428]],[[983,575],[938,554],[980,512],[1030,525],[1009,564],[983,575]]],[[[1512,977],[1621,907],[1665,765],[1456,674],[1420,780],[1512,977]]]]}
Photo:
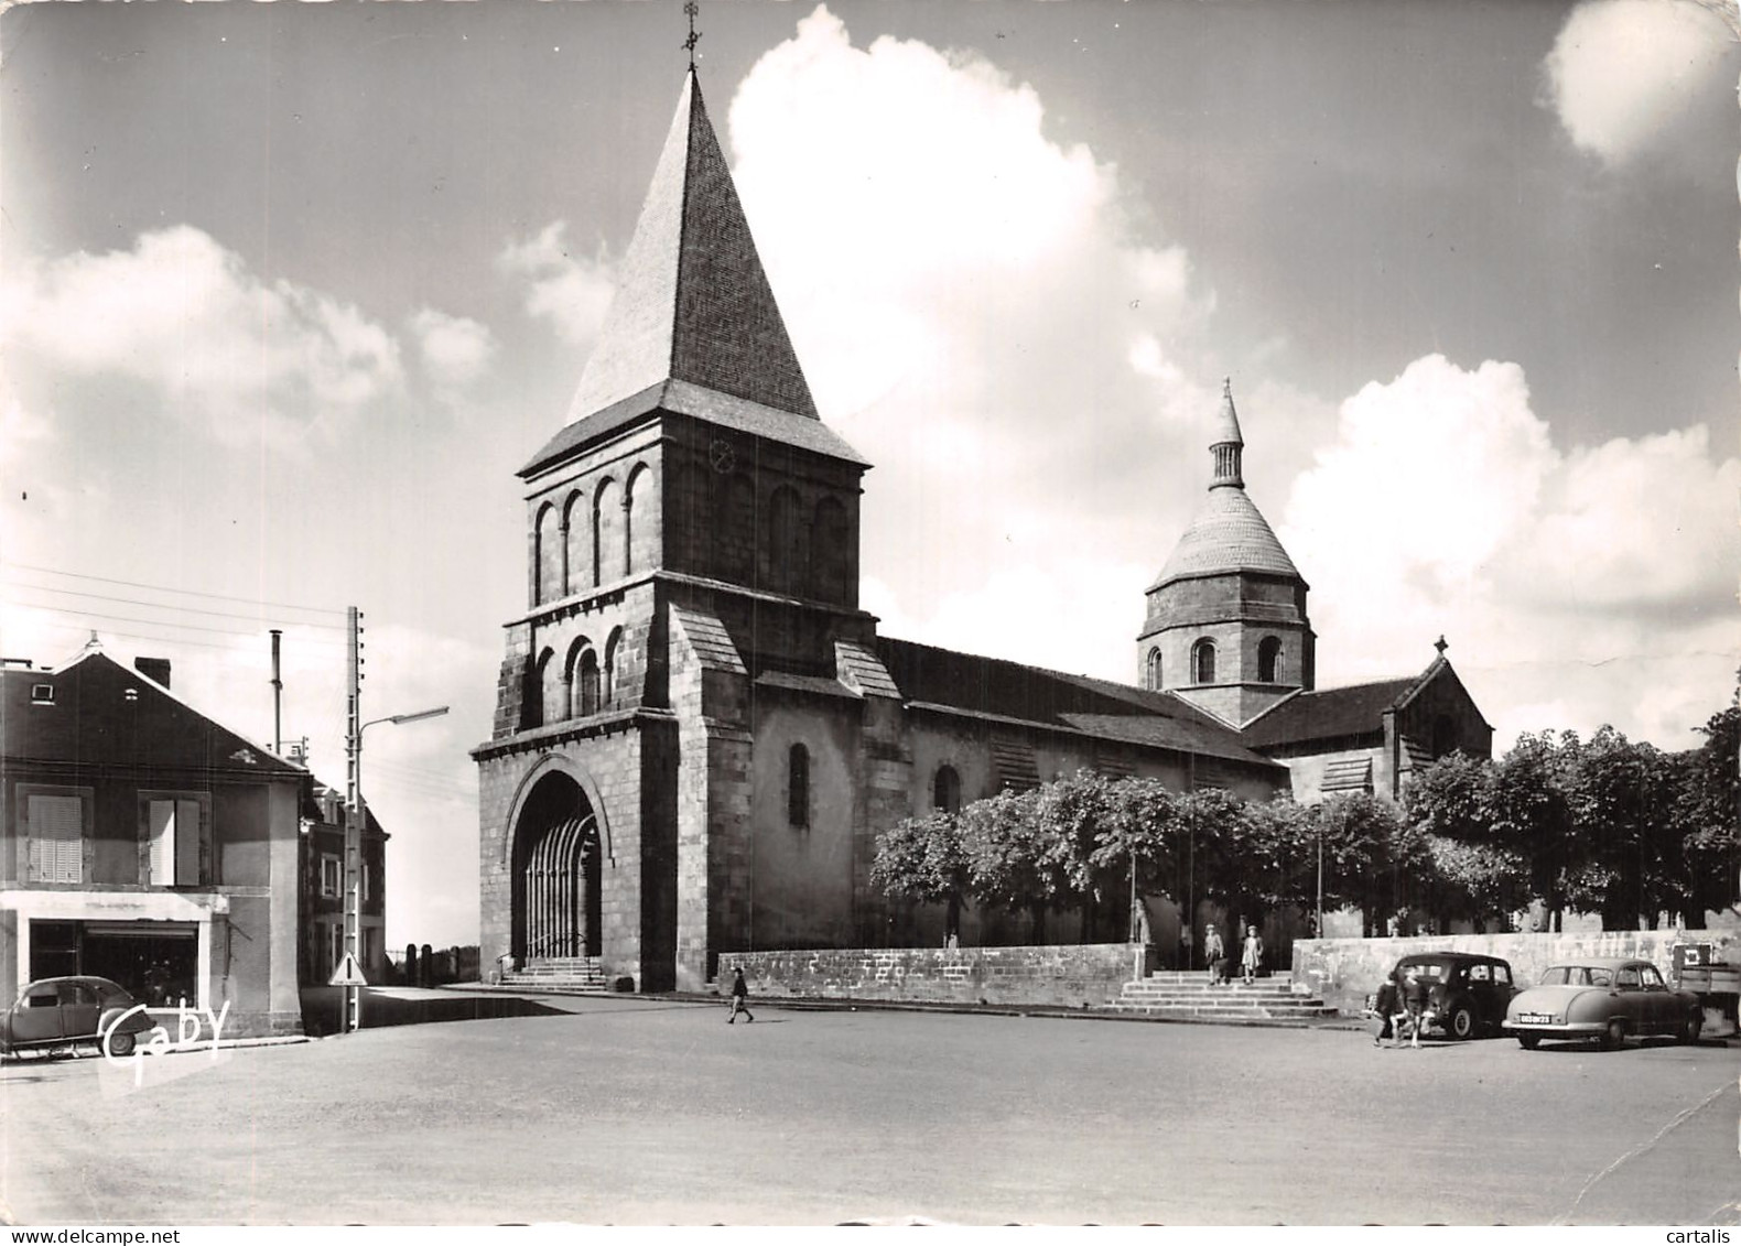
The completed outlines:
{"type": "Polygon", "coordinates": [[[700,985],[743,943],[752,689],[858,611],[869,465],[817,414],[691,66],[569,423],[481,767],[482,955],[700,985]]]}

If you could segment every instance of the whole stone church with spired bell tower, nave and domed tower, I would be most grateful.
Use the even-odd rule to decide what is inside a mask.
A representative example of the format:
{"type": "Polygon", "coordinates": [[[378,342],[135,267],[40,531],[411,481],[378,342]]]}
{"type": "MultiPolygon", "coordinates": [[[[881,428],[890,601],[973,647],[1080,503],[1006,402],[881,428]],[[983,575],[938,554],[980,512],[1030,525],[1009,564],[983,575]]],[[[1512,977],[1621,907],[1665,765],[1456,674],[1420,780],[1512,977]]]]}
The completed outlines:
{"type": "Polygon", "coordinates": [[[1078,769],[1266,799],[1415,740],[1461,684],[1435,663],[1396,705],[1314,708],[1306,583],[1245,496],[1231,397],[1217,439],[1140,686],[879,635],[870,465],[818,416],[691,70],[569,423],[519,472],[526,600],[472,752],[486,971],[702,988],[723,952],[933,943],[870,884],[902,818],[1078,769]]]}

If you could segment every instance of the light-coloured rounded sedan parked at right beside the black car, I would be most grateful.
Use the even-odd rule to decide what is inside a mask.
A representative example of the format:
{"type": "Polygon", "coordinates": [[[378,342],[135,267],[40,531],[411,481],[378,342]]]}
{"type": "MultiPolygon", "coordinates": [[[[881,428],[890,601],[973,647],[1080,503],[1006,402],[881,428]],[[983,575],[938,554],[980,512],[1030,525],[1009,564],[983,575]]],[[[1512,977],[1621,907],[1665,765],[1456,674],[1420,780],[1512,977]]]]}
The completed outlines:
{"type": "Polygon", "coordinates": [[[1647,1034],[1697,1042],[1703,1023],[1697,995],[1670,990],[1649,961],[1626,959],[1556,964],[1506,1011],[1525,1051],[1543,1039],[1596,1039],[1609,1049],[1647,1034]]]}

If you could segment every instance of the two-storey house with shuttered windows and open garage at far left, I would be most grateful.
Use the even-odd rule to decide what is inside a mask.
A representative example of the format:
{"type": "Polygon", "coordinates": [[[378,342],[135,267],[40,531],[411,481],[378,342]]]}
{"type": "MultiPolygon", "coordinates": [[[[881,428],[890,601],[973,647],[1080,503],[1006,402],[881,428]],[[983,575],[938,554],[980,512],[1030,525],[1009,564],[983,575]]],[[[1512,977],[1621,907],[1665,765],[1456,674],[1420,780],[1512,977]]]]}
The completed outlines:
{"type": "Polygon", "coordinates": [[[59,975],[299,1032],[308,773],[171,693],[167,661],[0,668],[0,997],[59,975]]]}

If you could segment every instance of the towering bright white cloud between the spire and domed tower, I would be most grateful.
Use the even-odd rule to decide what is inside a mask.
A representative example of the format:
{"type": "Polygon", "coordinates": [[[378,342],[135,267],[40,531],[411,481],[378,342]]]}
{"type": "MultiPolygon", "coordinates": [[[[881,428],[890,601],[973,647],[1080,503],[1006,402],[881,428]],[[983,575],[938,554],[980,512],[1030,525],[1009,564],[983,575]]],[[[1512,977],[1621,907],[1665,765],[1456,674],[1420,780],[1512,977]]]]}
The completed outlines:
{"type": "Polygon", "coordinates": [[[823,419],[890,465],[864,506],[890,618],[1036,660],[1017,632],[1050,633],[1126,673],[1160,543],[1208,470],[1213,296],[1189,254],[1137,230],[1114,165],[1048,137],[1032,87],[977,54],[857,49],[820,7],[750,70],[721,137],[823,419]],[[1032,599],[965,623],[1015,585],[1067,597],[1036,583],[1065,566],[1112,585],[1111,651],[1032,599]]]}

